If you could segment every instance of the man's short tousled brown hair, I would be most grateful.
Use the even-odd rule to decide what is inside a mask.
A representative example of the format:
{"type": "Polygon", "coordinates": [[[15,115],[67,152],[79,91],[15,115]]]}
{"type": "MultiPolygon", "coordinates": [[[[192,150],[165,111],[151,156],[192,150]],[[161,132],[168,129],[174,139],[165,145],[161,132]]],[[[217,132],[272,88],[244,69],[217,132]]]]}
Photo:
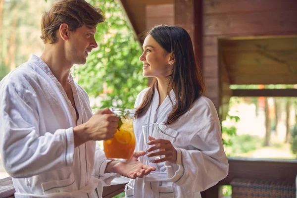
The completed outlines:
{"type": "Polygon", "coordinates": [[[83,25],[88,28],[95,28],[103,21],[102,10],[85,0],[57,0],[51,5],[50,10],[42,16],[41,39],[44,43],[56,43],[56,31],[63,23],[68,25],[70,31],[75,31],[83,25]]]}

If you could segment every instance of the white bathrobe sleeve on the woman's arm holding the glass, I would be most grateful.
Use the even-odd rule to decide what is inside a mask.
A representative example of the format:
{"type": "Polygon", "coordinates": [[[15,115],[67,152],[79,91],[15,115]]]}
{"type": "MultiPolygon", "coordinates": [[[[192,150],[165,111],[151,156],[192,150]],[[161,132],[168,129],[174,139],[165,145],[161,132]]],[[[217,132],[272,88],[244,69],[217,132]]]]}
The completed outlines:
{"type": "Polygon", "coordinates": [[[213,110],[213,116],[209,109],[205,109],[200,116],[199,110],[203,111],[203,108],[194,108],[179,121],[180,123],[176,123],[181,127],[178,132],[175,131],[178,135],[172,142],[173,145],[184,147],[176,148],[176,164],[165,161],[167,178],[192,192],[204,191],[228,174],[228,161],[216,111],[213,110]],[[184,133],[187,128],[193,133],[184,133]]]}

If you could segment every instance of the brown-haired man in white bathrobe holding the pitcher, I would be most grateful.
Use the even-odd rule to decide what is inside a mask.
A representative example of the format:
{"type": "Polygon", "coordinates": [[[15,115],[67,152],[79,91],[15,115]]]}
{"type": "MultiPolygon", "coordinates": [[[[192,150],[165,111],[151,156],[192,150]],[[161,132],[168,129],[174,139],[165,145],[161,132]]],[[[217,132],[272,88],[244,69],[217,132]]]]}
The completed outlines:
{"type": "Polygon", "coordinates": [[[107,108],[93,115],[69,73],[97,48],[103,21],[85,0],[56,1],[42,18],[41,57],[32,54],[0,82],[0,152],[15,198],[97,198],[116,176],[135,179],[155,170],[137,160],[145,151],[123,163],[96,148],[96,140],[113,137],[118,117],[107,108]]]}

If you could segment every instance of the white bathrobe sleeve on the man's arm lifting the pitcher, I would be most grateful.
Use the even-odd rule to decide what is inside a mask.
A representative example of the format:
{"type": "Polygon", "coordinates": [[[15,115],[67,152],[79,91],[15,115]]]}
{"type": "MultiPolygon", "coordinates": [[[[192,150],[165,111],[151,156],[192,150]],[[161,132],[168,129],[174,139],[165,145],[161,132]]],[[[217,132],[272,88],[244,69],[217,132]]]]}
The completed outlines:
{"type": "Polygon", "coordinates": [[[73,165],[73,128],[40,136],[36,95],[12,83],[0,94],[0,152],[10,176],[31,177],[73,165]]]}

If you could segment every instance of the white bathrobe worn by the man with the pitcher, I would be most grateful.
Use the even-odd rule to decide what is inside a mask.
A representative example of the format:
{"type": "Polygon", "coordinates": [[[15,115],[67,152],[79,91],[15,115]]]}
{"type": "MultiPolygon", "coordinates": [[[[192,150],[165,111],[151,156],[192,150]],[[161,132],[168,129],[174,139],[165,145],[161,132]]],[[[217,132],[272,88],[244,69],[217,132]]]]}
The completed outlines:
{"type": "Polygon", "coordinates": [[[100,198],[116,176],[104,174],[108,160],[95,141],[74,148],[73,127],[92,111],[71,75],[69,83],[78,120],[61,84],[33,54],[0,82],[0,152],[15,198],[100,198]]]}

